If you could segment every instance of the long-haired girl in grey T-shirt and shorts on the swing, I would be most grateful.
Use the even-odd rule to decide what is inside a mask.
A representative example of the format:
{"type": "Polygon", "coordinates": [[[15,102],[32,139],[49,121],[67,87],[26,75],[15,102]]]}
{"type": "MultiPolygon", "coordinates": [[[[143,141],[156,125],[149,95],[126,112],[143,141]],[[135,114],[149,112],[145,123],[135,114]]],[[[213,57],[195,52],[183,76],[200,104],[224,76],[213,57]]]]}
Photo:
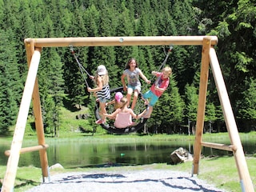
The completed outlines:
{"type": "Polygon", "coordinates": [[[137,102],[138,94],[141,91],[141,82],[139,81],[139,77],[141,77],[146,83],[150,84],[150,80],[146,78],[146,76],[142,73],[142,70],[138,68],[138,63],[135,58],[130,58],[130,60],[126,63],[126,69],[123,71],[121,81],[123,90],[127,92],[127,100],[128,106],[130,105],[130,98],[134,92],[134,99],[131,105],[131,109],[134,110],[135,104],[137,102]],[[127,78],[127,86],[125,78],[127,78]]]}

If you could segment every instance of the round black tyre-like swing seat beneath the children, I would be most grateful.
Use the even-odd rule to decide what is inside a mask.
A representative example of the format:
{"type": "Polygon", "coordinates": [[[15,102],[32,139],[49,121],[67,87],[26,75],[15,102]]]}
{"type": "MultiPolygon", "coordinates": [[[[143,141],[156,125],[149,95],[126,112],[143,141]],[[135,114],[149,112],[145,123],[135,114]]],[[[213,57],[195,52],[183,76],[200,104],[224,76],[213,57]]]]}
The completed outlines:
{"type": "MultiPolygon", "coordinates": [[[[117,92],[121,92],[122,94],[124,94],[122,86],[112,89],[110,90],[110,94],[111,94],[111,98],[110,99],[114,99],[114,94],[117,92]]],[[[138,100],[140,100],[140,96],[138,96],[138,100]]],[[[139,102],[139,101],[137,101],[139,102]]],[[[141,101],[142,102],[142,101],[141,101]]],[[[143,101],[143,105],[144,105],[144,101],[143,101]]],[[[94,114],[95,114],[95,118],[98,120],[100,119],[100,115],[99,115],[99,104],[98,102],[96,102],[95,105],[95,110],[94,110],[94,114]]],[[[145,108],[145,106],[141,106],[138,104],[138,107],[136,107],[137,109],[134,109],[134,113],[138,114],[141,112],[138,112],[136,110],[142,110],[145,108]]],[[[111,114],[112,112],[114,112],[114,105],[110,106],[110,109],[106,109],[108,114],[111,114]]],[[[110,132],[111,134],[130,134],[133,132],[136,132],[140,129],[143,128],[143,126],[145,125],[146,121],[148,118],[141,118],[140,122],[138,122],[138,124],[136,124],[135,126],[128,126],[126,128],[116,128],[113,126],[111,126],[110,124],[100,124],[100,126],[102,126],[103,129],[107,130],[108,132],[110,132]]]]}

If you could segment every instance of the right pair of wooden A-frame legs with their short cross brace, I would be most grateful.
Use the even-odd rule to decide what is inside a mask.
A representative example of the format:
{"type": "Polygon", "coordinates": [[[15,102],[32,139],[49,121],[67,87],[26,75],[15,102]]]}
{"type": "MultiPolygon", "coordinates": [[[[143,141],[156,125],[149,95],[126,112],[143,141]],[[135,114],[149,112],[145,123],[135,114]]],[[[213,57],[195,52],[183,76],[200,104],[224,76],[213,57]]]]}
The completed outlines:
{"type": "Polygon", "coordinates": [[[238,168],[240,186],[242,188],[242,191],[254,191],[254,186],[250,179],[249,170],[246,164],[246,158],[243,152],[242,143],[238,134],[238,128],[236,126],[234,114],[230,105],[230,99],[228,97],[225,82],[222,77],[222,71],[220,69],[215,50],[211,45],[210,38],[204,38],[202,42],[202,65],[200,74],[196,134],[194,141],[194,162],[192,169],[193,174],[198,174],[199,159],[201,156],[202,146],[212,147],[220,150],[233,151],[236,166],[238,168]],[[202,142],[202,131],[204,126],[204,117],[206,110],[206,92],[209,76],[209,64],[214,75],[214,82],[218,90],[218,98],[220,99],[221,102],[222,111],[226,122],[226,128],[230,136],[230,146],[218,143],[202,142]]]}

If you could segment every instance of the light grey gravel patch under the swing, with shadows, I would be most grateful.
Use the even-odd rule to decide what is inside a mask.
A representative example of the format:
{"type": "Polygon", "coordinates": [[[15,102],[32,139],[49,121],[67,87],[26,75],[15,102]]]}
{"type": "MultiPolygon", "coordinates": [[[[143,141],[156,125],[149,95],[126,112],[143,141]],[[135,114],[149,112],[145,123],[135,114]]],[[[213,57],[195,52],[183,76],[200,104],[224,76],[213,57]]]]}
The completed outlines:
{"type": "Polygon", "coordinates": [[[72,192],[72,191],[98,191],[98,192],[165,192],[165,191],[222,191],[213,185],[198,179],[196,176],[172,170],[130,170],[70,172],[55,174],[50,182],[27,190],[27,192],[72,192]]]}

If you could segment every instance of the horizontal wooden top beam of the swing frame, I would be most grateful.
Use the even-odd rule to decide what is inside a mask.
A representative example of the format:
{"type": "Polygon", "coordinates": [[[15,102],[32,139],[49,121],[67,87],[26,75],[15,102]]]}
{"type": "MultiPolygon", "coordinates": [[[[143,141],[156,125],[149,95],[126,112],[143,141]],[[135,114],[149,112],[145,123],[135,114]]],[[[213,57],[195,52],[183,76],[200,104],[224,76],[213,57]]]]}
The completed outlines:
{"type": "MultiPolygon", "coordinates": [[[[25,42],[34,42],[35,47],[56,46],[170,46],[202,45],[206,36],[136,36],[136,37],[85,37],[85,38],[26,38],[25,42]]],[[[207,36],[211,44],[216,45],[216,36],[207,36]]]]}

